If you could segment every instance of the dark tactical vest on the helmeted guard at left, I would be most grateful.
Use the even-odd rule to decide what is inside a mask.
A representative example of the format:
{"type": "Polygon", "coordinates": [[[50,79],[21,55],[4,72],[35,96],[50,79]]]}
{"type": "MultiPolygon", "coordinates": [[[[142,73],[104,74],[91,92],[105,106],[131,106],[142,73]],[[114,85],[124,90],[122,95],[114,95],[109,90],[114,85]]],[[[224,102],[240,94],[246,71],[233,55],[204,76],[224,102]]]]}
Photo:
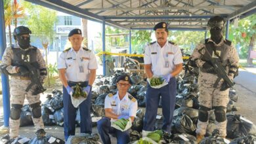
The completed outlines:
{"type": "Polygon", "coordinates": [[[14,48],[12,46],[13,59],[12,65],[22,66],[22,62],[28,62],[36,69],[39,69],[39,63],[37,62],[37,47],[29,48],[28,50],[22,50],[22,48],[14,48]]]}

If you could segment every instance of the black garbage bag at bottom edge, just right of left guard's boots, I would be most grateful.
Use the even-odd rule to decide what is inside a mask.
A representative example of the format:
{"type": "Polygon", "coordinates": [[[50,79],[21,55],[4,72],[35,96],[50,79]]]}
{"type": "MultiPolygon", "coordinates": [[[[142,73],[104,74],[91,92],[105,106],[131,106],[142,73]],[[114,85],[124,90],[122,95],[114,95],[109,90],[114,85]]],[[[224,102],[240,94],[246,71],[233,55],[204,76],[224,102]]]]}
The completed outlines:
{"type": "Polygon", "coordinates": [[[30,144],[64,144],[65,141],[57,137],[46,135],[45,130],[40,129],[35,132],[36,137],[30,140],[30,144]]]}

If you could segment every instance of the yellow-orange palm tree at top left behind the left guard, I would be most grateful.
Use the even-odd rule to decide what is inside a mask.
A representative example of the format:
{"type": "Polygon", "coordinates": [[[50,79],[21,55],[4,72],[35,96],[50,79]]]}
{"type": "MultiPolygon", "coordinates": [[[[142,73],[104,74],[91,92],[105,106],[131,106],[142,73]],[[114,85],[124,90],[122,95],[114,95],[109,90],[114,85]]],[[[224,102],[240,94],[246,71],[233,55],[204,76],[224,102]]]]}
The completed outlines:
{"type": "Polygon", "coordinates": [[[15,20],[15,27],[17,26],[17,18],[24,16],[24,9],[21,7],[16,0],[12,3],[11,0],[5,0],[5,27],[9,27],[9,41],[12,44],[12,32],[11,32],[11,23],[12,20],[15,20]]]}

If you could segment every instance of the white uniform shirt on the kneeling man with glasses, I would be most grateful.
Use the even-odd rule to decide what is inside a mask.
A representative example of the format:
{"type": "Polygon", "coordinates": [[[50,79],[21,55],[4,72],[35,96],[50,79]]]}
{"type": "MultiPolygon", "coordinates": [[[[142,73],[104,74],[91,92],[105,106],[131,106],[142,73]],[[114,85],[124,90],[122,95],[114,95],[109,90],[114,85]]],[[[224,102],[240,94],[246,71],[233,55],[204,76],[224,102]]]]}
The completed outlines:
{"type": "Polygon", "coordinates": [[[127,115],[129,117],[136,117],[138,103],[137,99],[133,98],[128,92],[125,94],[123,99],[119,99],[118,92],[108,94],[105,98],[105,109],[112,109],[116,115],[127,115]]]}

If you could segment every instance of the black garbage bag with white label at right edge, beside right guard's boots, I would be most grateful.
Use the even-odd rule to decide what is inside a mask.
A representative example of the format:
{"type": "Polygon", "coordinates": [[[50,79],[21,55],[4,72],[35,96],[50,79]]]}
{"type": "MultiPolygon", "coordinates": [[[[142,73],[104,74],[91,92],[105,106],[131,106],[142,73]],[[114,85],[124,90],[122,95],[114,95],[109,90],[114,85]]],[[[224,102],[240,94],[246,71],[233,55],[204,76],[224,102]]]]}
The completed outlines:
{"type": "Polygon", "coordinates": [[[226,125],[226,136],[230,139],[243,137],[245,135],[255,135],[256,126],[241,115],[228,115],[226,125]]]}

